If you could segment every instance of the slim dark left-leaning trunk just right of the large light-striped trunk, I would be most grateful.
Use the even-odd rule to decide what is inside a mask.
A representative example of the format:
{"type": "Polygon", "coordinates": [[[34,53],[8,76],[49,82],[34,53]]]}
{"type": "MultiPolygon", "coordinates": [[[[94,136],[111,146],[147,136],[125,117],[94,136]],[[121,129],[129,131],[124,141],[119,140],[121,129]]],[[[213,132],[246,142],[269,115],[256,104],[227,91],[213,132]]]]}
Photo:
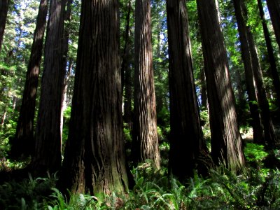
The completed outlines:
{"type": "Polygon", "coordinates": [[[264,131],[262,122],[260,120],[260,113],[258,107],[258,99],[256,95],[255,78],[253,76],[253,65],[251,52],[248,44],[247,26],[244,19],[244,10],[241,8],[242,0],[234,0],[235,16],[237,18],[237,25],[239,31],[239,39],[241,43],[241,56],[244,62],[246,89],[249,99],[249,107],[251,113],[251,125],[253,127],[253,139],[260,143],[264,140],[264,131]]]}

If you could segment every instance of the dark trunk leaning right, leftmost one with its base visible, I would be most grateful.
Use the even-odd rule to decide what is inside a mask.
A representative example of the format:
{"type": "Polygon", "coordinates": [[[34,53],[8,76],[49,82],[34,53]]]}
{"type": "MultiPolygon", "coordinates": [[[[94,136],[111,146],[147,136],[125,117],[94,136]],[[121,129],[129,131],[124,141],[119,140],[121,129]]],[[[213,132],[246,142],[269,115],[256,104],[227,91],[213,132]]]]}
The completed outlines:
{"type": "Polygon", "coordinates": [[[28,157],[34,154],[34,116],[36,106],[36,93],[38,87],[39,69],[43,54],[43,36],[48,13],[48,0],[41,0],[38,10],[36,29],[31,47],[31,55],[27,67],[25,90],[20,107],[15,139],[12,142],[11,157],[28,157]]]}

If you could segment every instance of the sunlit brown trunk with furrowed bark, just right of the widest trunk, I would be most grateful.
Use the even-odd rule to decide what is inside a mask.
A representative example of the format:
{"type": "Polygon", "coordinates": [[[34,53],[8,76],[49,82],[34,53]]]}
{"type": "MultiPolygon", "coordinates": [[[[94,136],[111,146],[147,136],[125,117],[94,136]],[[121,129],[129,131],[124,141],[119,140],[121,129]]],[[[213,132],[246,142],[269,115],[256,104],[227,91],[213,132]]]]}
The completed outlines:
{"type": "Polygon", "coordinates": [[[135,5],[135,73],[133,141],[136,162],[153,160],[160,168],[153,56],[151,43],[150,0],[137,0],[135,5]]]}

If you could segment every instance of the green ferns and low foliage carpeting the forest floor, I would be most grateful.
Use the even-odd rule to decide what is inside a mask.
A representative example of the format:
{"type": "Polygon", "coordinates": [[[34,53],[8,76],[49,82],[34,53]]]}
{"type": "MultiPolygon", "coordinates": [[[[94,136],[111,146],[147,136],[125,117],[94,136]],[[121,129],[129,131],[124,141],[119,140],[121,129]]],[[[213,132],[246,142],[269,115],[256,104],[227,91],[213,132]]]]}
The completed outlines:
{"type": "Polygon", "coordinates": [[[155,171],[147,160],[132,169],[135,185],[125,194],[76,194],[66,199],[55,188],[56,174],[36,179],[29,175],[22,181],[1,183],[0,209],[276,209],[279,170],[265,168],[269,154],[262,146],[246,144],[245,153],[246,175],[217,168],[207,178],[195,173],[186,183],[168,177],[166,168],[155,171]]]}

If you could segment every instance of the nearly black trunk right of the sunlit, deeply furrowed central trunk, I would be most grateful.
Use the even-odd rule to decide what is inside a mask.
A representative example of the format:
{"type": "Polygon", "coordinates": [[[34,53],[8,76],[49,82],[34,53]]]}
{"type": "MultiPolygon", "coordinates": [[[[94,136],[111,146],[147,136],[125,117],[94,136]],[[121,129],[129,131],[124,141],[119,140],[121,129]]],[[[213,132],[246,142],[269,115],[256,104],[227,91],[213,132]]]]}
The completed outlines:
{"type": "MultiPolygon", "coordinates": [[[[198,111],[186,1],[167,0],[170,88],[170,173],[193,175],[201,151],[207,151],[198,111]],[[182,165],[182,162],[188,162],[182,165]]],[[[210,163],[211,164],[211,163],[210,163]]],[[[206,166],[199,166],[207,169],[206,166]]]]}

